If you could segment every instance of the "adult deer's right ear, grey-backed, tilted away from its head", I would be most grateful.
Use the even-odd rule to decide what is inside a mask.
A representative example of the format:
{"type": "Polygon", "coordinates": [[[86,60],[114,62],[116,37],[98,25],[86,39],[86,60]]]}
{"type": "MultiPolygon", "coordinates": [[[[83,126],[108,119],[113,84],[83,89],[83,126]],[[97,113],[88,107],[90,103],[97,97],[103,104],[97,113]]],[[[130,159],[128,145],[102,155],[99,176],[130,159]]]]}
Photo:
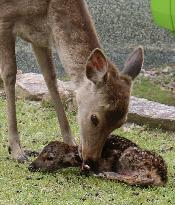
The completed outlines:
{"type": "Polygon", "coordinates": [[[142,47],[136,48],[128,57],[124,64],[123,74],[129,75],[132,79],[140,73],[144,61],[142,47]]]}

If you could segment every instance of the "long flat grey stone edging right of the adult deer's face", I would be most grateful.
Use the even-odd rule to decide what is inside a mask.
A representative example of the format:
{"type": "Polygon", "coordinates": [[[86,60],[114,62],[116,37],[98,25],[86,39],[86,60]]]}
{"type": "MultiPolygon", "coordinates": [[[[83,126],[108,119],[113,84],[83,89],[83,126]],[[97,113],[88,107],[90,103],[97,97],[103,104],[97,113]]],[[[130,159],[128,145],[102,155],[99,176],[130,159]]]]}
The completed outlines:
{"type": "Polygon", "coordinates": [[[131,97],[128,121],[175,131],[175,107],[131,97]]]}

